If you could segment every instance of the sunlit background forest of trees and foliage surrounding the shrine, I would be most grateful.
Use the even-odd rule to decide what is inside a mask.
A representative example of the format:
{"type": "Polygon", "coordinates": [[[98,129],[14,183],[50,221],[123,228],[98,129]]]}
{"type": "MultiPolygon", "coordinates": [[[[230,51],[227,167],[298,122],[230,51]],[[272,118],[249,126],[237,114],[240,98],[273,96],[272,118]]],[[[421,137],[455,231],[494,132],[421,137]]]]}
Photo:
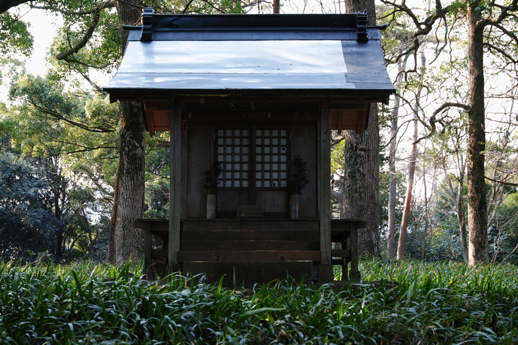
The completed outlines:
{"type": "MultiPolygon", "coordinates": [[[[490,16],[510,4],[481,3],[480,15],[490,16]]],[[[280,6],[281,13],[335,13],[346,12],[349,5],[310,0],[0,1],[0,67],[6,91],[0,103],[3,262],[33,261],[42,255],[62,262],[102,261],[109,255],[110,229],[115,231],[118,219],[113,204],[118,188],[124,190],[117,172],[127,140],[127,112],[123,105],[110,104],[102,86],[122,56],[121,24],[138,25],[143,6],[155,12],[271,13],[280,6]],[[135,18],[125,18],[123,6],[135,18]],[[38,75],[24,66],[34,45],[31,23],[24,20],[29,11],[56,18],[47,23],[48,32],[55,34],[47,47],[49,68],[38,75]]],[[[416,2],[407,7],[383,0],[376,3],[376,12],[377,24],[388,25],[382,42],[398,92],[390,104],[378,107],[379,199],[366,205],[378,210],[369,218],[375,248],[364,252],[394,257],[397,247],[398,257],[467,261],[466,4],[416,2]]],[[[488,259],[516,264],[518,37],[513,28],[518,18],[512,13],[480,34],[488,259]]],[[[372,115],[370,121],[375,121],[372,115]]],[[[349,135],[334,133],[330,188],[337,218],[355,218],[347,196],[357,182],[352,170],[361,157],[349,135]]],[[[168,133],[145,139],[145,201],[136,214],[167,218],[168,145],[168,133]]]]}

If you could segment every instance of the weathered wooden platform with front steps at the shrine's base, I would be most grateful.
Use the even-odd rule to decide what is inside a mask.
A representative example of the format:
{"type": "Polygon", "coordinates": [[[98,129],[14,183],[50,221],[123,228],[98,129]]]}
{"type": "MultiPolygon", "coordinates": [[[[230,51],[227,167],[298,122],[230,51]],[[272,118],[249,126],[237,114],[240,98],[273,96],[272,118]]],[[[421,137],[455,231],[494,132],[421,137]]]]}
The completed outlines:
{"type": "MultiPolygon", "coordinates": [[[[168,222],[167,219],[138,219],[134,223],[135,228],[145,229],[145,267],[150,278],[154,278],[155,271],[162,271],[161,264],[167,263],[168,222]],[[152,236],[162,240],[163,249],[151,247],[152,236]],[[155,269],[151,269],[152,265],[156,266],[155,269]]],[[[332,250],[332,264],[342,266],[342,280],[356,277],[359,274],[356,229],[364,228],[366,223],[356,219],[337,219],[332,220],[331,224],[331,241],[339,244],[336,247],[340,248],[332,250]],[[349,239],[351,241],[348,242],[349,239]],[[348,243],[350,243],[349,247],[348,243]],[[351,274],[348,272],[349,262],[351,262],[351,274]]],[[[319,239],[319,221],[316,220],[183,219],[178,259],[181,265],[186,262],[304,261],[318,265],[320,263],[319,239]]],[[[207,267],[209,269],[211,265],[214,266],[214,264],[200,266],[200,264],[191,263],[183,268],[189,270],[189,267],[197,267],[196,269],[207,267]]],[[[240,266],[243,265],[247,264],[240,266]]],[[[221,265],[221,267],[226,266],[228,264],[221,265]]],[[[294,276],[298,275],[295,273],[294,276]]]]}

